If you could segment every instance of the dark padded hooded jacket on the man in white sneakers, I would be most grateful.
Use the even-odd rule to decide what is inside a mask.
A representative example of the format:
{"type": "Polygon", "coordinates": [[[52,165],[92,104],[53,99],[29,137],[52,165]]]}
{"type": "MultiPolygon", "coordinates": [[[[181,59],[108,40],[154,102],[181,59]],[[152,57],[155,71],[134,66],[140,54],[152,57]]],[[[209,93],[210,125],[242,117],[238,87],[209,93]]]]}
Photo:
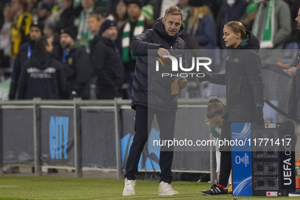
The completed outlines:
{"type": "MultiPolygon", "coordinates": [[[[157,55],[149,55],[148,50],[158,48],[168,49],[170,54],[182,57],[185,65],[185,43],[179,36],[182,34],[183,25],[175,36],[169,36],[162,24],[162,18],[158,18],[152,28],[142,32],[130,48],[134,56],[138,56],[136,71],[132,86],[131,108],[135,110],[136,105],[148,106],[164,112],[177,111],[177,95],[171,96],[171,85],[177,77],[162,77],[162,73],[172,73],[171,61],[165,59],[166,66],[155,70],[155,58],[157,55]],[[149,58],[149,60],[148,60],[149,58]]],[[[157,51],[155,51],[157,54],[157,51]]],[[[179,59],[178,59],[179,60],[179,59]]]]}

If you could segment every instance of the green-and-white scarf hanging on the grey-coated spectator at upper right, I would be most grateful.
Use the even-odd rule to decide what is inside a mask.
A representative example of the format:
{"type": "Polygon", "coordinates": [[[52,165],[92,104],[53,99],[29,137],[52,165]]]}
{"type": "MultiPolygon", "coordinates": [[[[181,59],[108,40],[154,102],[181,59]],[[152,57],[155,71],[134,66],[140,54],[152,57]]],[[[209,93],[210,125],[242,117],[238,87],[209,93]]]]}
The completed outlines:
{"type": "Polygon", "coordinates": [[[270,0],[265,8],[265,14],[262,16],[263,3],[259,5],[256,14],[252,32],[259,39],[260,48],[273,48],[274,28],[275,28],[275,0],[270,0]],[[263,18],[262,18],[263,17],[263,18]],[[261,28],[261,32],[258,32],[261,28]]]}

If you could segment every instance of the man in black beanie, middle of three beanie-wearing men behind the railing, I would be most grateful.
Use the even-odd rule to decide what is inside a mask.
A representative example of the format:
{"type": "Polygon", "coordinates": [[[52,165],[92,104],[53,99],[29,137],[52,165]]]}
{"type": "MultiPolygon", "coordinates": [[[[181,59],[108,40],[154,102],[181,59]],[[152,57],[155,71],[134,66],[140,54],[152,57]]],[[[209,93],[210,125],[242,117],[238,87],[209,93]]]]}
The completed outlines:
{"type": "Polygon", "coordinates": [[[66,74],[68,78],[64,98],[81,97],[89,99],[91,64],[84,48],[74,46],[75,40],[76,32],[74,28],[68,27],[61,30],[60,46],[63,49],[63,53],[59,55],[59,58],[75,72],[74,75],[66,74]]]}

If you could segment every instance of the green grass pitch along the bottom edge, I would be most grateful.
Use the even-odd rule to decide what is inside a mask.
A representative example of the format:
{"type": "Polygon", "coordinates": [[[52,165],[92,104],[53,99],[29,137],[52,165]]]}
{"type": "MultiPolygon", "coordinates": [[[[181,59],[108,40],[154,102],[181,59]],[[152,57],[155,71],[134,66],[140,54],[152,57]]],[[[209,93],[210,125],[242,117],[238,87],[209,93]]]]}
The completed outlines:
{"type": "MultiPolygon", "coordinates": [[[[172,182],[176,196],[158,196],[158,181],[137,180],[135,196],[122,196],[124,180],[0,176],[0,199],[293,199],[291,197],[235,197],[231,194],[204,196],[212,183],[172,182]]],[[[297,199],[297,198],[296,198],[297,199]]]]}

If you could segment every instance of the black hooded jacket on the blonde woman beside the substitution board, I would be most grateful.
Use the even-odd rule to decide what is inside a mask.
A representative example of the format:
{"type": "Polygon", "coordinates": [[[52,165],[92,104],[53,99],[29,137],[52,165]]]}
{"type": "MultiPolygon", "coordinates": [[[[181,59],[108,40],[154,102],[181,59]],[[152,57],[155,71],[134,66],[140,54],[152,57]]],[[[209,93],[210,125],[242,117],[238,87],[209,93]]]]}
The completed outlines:
{"type": "Polygon", "coordinates": [[[223,117],[229,122],[254,122],[256,107],[263,106],[264,85],[258,51],[258,40],[247,31],[247,38],[236,49],[229,50],[225,74],[210,76],[211,83],[226,85],[223,117]]]}

